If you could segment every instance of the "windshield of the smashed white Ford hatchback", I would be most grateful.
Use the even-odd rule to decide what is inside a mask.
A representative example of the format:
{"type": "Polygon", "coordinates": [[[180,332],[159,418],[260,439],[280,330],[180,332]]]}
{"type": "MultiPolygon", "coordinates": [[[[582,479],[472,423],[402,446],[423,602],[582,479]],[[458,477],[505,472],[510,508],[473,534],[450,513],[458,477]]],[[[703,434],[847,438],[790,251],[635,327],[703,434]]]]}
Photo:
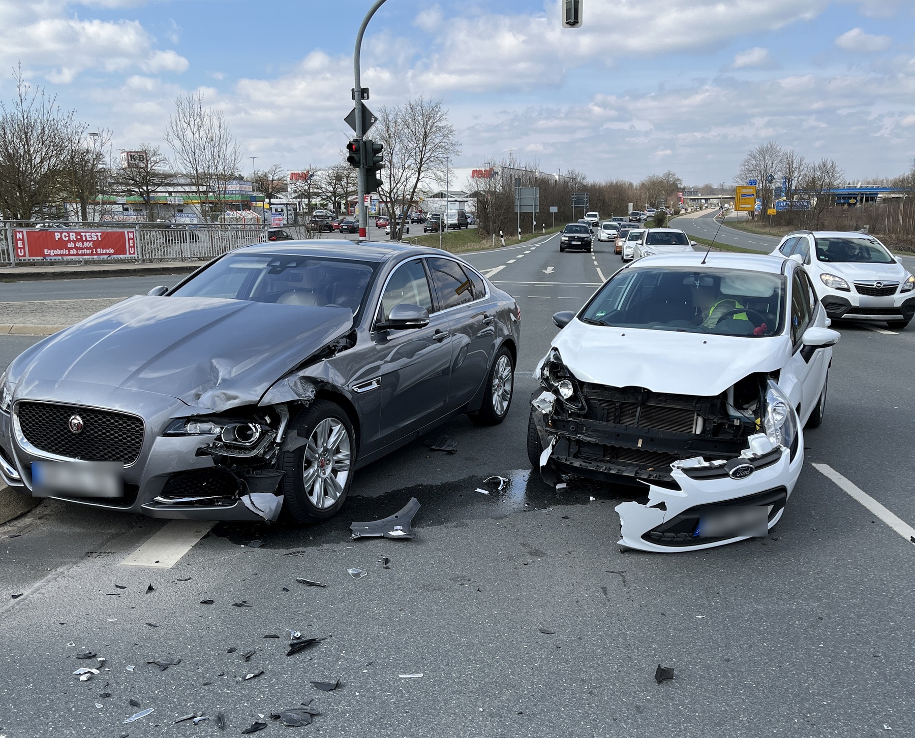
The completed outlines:
{"type": "Polygon", "coordinates": [[[766,337],[780,333],[784,277],[731,269],[625,269],[591,298],[581,319],[619,326],[766,337]]]}

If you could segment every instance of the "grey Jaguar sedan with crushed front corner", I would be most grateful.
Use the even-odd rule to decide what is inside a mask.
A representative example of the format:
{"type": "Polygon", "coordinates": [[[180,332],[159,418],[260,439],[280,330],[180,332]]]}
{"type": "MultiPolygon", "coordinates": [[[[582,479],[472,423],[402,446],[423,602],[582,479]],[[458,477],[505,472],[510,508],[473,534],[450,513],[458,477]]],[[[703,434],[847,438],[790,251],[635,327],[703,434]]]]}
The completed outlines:
{"type": "Polygon", "coordinates": [[[327,519],[361,466],[460,413],[504,420],[520,321],[445,251],[231,251],[17,357],[0,477],[154,518],[327,519]]]}

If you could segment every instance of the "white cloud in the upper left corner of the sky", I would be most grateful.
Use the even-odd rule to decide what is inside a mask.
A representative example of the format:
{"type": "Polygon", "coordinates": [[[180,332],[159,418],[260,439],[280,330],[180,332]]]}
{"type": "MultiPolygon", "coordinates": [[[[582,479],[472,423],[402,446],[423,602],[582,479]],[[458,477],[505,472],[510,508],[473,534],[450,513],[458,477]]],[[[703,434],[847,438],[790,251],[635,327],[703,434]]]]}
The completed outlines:
{"type": "MultiPolygon", "coordinates": [[[[105,3],[114,5],[124,3],[105,3]]],[[[66,0],[0,0],[0,17],[0,68],[10,69],[21,61],[27,70],[55,84],[69,84],[85,70],[188,69],[188,60],[177,52],[155,48],[154,39],[137,21],[81,19],[70,13],[66,0]]]]}

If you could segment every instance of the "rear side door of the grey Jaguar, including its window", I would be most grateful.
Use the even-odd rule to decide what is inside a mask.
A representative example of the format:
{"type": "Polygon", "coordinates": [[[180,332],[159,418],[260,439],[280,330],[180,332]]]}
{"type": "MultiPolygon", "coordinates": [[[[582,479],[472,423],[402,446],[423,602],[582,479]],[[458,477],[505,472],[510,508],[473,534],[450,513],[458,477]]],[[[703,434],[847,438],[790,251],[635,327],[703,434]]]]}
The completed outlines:
{"type": "Polygon", "coordinates": [[[453,259],[425,260],[438,305],[449,315],[453,337],[447,409],[456,410],[479,390],[495,349],[496,314],[478,273],[453,259]]]}

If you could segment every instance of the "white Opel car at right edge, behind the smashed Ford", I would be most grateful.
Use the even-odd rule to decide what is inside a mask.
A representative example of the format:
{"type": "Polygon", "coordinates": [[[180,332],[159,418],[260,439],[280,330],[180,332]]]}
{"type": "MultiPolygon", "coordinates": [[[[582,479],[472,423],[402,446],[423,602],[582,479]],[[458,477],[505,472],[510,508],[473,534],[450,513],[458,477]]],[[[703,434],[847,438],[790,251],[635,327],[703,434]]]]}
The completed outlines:
{"type": "Polygon", "coordinates": [[[833,320],[886,322],[901,330],[915,316],[915,277],[867,233],[789,233],[772,255],[802,262],[833,320]]]}

